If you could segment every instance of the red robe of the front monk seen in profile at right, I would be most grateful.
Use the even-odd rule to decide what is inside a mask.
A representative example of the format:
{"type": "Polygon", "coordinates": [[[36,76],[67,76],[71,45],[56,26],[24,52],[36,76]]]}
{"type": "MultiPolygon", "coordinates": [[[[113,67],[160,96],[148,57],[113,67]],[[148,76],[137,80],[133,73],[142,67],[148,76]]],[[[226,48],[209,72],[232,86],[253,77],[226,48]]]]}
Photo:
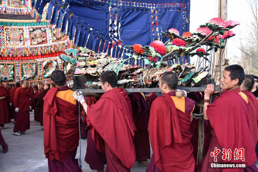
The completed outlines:
{"type": "MultiPolygon", "coordinates": [[[[221,152],[217,156],[217,162],[242,163],[241,159],[234,160],[235,149],[244,148],[244,163],[247,166],[253,165],[256,161],[256,154],[253,140],[250,134],[246,116],[248,115],[248,105],[239,95],[240,88],[232,91],[225,91],[218,96],[213,103],[208,105],[206,115],[212,126],[212,139],[205,157],[196,166],[197,171],[221,171],[219,168],[209,168],[209,163],[214,163],[214,157],[210,153],[215,151],[215,147],[221,152]],[[222,160],[222,148],[231,149],[232,159],[222,160]]],[[[243,168],[236,168],[234,171],[243,171],[243,168]]],[[[225,168],[223,171],[232,171],[225,168]]]]}

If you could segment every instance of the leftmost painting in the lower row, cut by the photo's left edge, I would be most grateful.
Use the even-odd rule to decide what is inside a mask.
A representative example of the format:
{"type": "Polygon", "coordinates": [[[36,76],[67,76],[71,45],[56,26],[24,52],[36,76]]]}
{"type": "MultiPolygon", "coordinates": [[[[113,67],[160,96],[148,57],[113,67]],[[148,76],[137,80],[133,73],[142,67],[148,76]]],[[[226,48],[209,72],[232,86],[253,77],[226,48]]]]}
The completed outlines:
{"type": "Polygon", "coordinates": [[[15,62],[0,63],[0,81],[15,81],[15,62]]]}

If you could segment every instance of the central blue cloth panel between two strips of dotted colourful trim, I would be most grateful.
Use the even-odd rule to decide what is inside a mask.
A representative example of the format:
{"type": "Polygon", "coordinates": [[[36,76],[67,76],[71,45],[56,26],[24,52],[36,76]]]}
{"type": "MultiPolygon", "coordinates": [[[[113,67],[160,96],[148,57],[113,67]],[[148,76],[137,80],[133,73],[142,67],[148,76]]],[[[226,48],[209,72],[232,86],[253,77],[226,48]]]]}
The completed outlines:
{"type": "Polygon", "coordinates": [[[144,7],[119,6],[120,38],[124,45],[149,45],[153,41],[151,9],[144,7]]]}

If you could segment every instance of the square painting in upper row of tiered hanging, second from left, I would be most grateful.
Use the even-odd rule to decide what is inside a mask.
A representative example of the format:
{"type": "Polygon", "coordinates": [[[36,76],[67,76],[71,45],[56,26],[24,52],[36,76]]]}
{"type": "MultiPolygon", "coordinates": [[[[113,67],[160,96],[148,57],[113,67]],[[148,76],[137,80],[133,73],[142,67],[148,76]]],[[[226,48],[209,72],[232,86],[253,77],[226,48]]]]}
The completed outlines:
{"type": "Polygon", "coordinates": [[[46,44],[46,28],[29,28],[30,45],[46,44]]]}

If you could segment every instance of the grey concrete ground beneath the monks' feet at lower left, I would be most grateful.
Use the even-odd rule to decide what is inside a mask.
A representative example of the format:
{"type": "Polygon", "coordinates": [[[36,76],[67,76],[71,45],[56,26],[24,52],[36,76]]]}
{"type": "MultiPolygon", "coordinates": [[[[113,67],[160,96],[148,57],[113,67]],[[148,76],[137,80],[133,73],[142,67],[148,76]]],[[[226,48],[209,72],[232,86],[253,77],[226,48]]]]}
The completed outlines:
{"type": "MultiPolygon", "coordinates": [[[[39,122],[34,121],[34,113],[30,113],[30,130],[28,134],[15,136],[13,132],[13,122],[5,124],[2,129],[2,135],[5,142],[8,143],[7,153],[2,152],[0,146],[0,171],[1,172],[47,172],[48,164],[44,155],[43,131],[39,122]]],[[[82,170],[83,172],[92,172],[89,165],[84,161],[87,140],[82,139],[82,170]]],[[[76,158],[80,157],[78,147],[76,158]]],[[[131,172],[145,172],[146,166],[134,164],[131,172]]]]}

